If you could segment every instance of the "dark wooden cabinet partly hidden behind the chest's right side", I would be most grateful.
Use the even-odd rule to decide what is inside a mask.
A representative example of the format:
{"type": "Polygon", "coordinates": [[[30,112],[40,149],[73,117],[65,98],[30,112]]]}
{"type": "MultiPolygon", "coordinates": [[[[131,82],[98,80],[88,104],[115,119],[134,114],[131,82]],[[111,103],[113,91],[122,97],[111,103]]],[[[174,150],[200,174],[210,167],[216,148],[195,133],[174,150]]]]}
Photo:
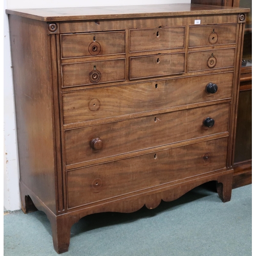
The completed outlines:
{"type": "MultiPolygon", "coordinates": [[[[251,0],[191,0],[191,4],[246,7],[251,9],[251,0]]],[[[240,76],[236,143],[233,145],[234,175],[233,188],[252,182],[252,68],[251,68],[251,12],[246,18],[244,35],[243,65],[240,76]],[[246,62],[249,59],[249,63],[246,62]]]]}

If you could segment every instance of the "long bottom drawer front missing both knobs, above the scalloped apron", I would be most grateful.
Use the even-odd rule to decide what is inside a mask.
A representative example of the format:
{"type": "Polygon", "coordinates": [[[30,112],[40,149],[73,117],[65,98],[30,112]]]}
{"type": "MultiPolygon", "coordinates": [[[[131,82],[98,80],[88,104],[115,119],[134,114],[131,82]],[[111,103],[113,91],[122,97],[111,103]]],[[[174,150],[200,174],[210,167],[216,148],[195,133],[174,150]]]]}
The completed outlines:
{"type": "Polygon", "coordinates": [[[226,166],[227,138],[67,172],[68,208],[209,173],[226,166]]]}

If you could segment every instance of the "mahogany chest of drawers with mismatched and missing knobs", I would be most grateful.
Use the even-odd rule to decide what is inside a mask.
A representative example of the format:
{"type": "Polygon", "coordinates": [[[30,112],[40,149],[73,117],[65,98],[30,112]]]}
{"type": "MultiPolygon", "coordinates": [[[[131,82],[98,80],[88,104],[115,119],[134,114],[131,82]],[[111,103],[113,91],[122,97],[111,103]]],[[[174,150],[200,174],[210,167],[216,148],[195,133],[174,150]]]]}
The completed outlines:
{"type": "Polygon", "coordinates": [[[231,197],[248,9],[7,10],[20,195],[54,248],[102,211],[155,208],[217,181],[231,197]]]}

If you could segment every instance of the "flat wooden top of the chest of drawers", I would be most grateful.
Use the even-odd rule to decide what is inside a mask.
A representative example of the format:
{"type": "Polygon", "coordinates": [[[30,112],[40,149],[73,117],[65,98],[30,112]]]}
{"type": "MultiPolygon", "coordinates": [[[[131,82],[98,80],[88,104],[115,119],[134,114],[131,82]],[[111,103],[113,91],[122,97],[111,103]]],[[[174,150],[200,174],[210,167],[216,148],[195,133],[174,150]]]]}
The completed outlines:
{"type": "Polygon", "coordinates": [[[168,4],[141,6],[106,6],[43,9],[12,9],[7,14],[37,19],[45,22],[60,22],[82,19],[142,18],[179,15],[228,14],[249,12],[248,8],[211,6],[198,4],[168,4]]]}

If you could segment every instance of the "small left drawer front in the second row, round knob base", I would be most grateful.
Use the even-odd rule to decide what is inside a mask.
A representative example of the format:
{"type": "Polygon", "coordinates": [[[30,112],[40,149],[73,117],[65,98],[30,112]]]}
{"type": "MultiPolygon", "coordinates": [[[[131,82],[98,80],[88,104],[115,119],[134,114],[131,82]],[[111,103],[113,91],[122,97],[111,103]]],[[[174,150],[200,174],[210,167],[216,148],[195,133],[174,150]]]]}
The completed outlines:
{"type": "Polygon", "coordinates": [[[63,87],[124,81],[125,59],[65,64],[61,71],[63,87]]]}

